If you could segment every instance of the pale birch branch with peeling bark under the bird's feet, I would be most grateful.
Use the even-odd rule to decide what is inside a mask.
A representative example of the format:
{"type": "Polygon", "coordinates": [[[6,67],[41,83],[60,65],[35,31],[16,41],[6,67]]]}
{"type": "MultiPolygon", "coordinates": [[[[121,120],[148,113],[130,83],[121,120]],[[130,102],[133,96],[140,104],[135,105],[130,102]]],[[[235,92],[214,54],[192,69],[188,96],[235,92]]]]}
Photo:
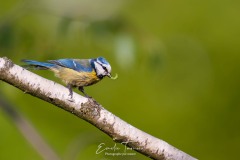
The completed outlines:
{"type": "Polygon", "coordinates": [[[69,101],[66,87],[15,65],[6,57],[0,58],[0,80],[84,119],[105,132],[114,141],[127,145],[152,159],[195,160],[165,141],[126,123],[93,99],[73,93],[74,101],[69,101]]]}

